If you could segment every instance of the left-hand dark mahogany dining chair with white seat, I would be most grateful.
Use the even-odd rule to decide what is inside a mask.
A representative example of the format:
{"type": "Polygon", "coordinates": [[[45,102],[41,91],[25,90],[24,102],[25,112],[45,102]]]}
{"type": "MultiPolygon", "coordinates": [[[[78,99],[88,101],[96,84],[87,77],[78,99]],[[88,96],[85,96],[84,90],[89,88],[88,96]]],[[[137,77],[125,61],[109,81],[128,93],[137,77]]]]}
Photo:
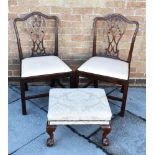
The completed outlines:
{"type": "Polygon", "coordinates": [[[58,17],[47,16],[41,12],[32,12],[23,18],[14,19],[20,59],[20,88],[23,115],[27,113],[27,99],[48,96],[48,93],[26,96],[25,91],[28,90],[29,82],[54,82],[59,78],[72,76],[70,67],[58,57],[58,24],[58,17]],[[25,42],[23,41],[22,43],[26,35],[29,37],[27,41],[29,47],[31,47],[28,54],[24,52],[25,48],[27,48],[25,42]]]}

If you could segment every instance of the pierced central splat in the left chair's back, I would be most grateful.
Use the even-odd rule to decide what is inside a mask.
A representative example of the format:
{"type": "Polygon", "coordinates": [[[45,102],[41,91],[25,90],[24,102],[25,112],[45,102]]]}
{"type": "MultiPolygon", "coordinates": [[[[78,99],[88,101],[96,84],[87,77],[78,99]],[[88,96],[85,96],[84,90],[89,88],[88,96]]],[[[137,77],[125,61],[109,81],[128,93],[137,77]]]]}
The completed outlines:
{"type": "Polygon", "coordinates": [[[33,42],[31,48],[31,56],[44,56],[48,55],[44,47],[44,36],[46,33],[46,20],[40,15],[33,15],[25,21],[26,30],[30,35],[33,42]]]}

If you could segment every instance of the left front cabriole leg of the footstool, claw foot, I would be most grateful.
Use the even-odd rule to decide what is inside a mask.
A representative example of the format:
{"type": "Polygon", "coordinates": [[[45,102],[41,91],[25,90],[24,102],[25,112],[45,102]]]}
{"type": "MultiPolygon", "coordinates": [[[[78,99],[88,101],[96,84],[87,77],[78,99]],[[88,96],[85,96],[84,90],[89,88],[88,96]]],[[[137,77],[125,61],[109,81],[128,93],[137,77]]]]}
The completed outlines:
{"type": "Polygon", "coordinates": [[[47,122],[46,132],[49,135],[49,138],[47,139],[47,146],[51,147],[54,145],[54,131],[56,129],[55,125],[49,125],[47,122]]]}

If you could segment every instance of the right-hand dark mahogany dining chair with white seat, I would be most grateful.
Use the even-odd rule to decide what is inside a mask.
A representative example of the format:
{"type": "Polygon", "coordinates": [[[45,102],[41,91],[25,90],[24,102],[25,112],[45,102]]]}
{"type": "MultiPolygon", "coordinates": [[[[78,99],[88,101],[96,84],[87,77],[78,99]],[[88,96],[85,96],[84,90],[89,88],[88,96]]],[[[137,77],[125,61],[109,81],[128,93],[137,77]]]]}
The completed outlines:
{"type": "Polygon", "coordinates": [[[122,102],[120,111],[120,116],[122,117],[125,113],[130,63],[138,29],[139,23],[137,21],[128,20],[120,14],[96,17],[93,23],[92,57],[83,63],[76,72],[77,84],[79,83],[79,77],[86,77],[90,80],[84,87],[89,86],[91,83],[94,83],[94,87],[98,87],[98,80],[120,85],[121,92],[123,93],[122,97],[108,95],[108,98],[122,102]],[[98,22],[102,22],[102,24],[98,22]],[[98,27],[104,27],[103,31],[97,29],[97,24],[98,27]],[[128,33],[131,31],[133,32],[132,35],[128,33]],[[125,34],[126,32],[128,34],[125,34]],[[107,41],[105,41],[104,50],[100,49],[100,53],[102,54],[98,54],[98,42],[96,40],[101,33],[104,33],[107,41]],[[123,36],[127,38],[128,42],[131,42],[131,44],[129,42],[129,50],[127,52],[119,49],[123,36]],[[122,53],[120,54],[120,52],[122,53]]]}

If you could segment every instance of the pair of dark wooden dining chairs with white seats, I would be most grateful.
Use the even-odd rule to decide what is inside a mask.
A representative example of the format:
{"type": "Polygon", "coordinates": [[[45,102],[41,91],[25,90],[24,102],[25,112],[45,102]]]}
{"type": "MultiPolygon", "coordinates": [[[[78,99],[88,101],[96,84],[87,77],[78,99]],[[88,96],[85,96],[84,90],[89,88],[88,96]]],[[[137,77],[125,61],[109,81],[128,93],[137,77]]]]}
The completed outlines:
{"type": "Polygon", "coordinates": [[[93,83],[94,87],[98,87],[99,80],[119,84],[123,94],[122,97],[118,98],[110,95],[107,97],[122,102],[120,116],[124,116],[129,85],[130,63],[136,35],[139,29],[139,23],[137,21],[128,20],[120,14],[96,17],[93,22],[92,57],[85,61],[76,71],[72,71],[72,69],[58,56],[59,19],[57,16],[47,16],[41,12],[32,12],[23,18],[14,19],[13,24],[20,59],[20,88],[23,115],[27,114],[26,100],[48,96],[48,93],[26,96],[25,92],[28,90],[28,83],[49,81],[51,86],[57,82],[61,87],[64,87],[59,79],[69,77],[71,87],[78,87],[79,77],[85,77],[89,79],[89,81],[84,87],[89,86],[91,83],[93,83]],[[54,25],[52,25],[54,26],[54,41],[52,40],[54,42],[53,53],[47,52],[44,46],[45,40],[51,39],[46,35],[49,35],[51,30],[51,25],[47,22],[48,20],[54,21],[54,25]],[[104,34],[107,38],[107,44],[102,55],[98,55],[97,53],[97,23],[100,21],[103,21],[104,34]],[[26,28],[23,26],[18,27],[18,22],[23,22],[26,28]],[[129,31],[132,30],[133,35],[131,36],[131,40],[127,41],[130,42],[127,58],[122,59],[119,53],[119,43],[125,32],[127,32],[127,25],[132,25],[129,31]],[[32,42],[29,56],[24,56],[21,44],[22,35],[20,35],[22,28],[26,29],[26,33],[30,36],[29,41],[32,42]]]}

